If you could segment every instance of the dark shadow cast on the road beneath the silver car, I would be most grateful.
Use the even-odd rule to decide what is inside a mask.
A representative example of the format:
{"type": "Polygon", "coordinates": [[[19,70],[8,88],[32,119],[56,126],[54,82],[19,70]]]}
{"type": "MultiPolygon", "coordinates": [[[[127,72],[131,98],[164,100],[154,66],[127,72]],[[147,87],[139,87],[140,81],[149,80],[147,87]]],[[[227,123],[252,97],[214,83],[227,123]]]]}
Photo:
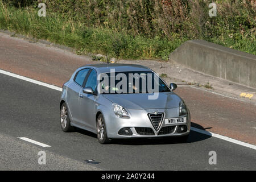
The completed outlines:
{"type": "MultiPolygon", "coordinates": [[[[202,140],[206,140],[211,138],[211,134],[208,131],[205,131],[203,126],[197,123],[191,123],[192,127],[195,127],[200,130],[204,130],[204,133],[198,133],[197,131],[190,131],[189,137],[187,142],[181,142],[179,137],[160,137],[160,138],[133,138],[133,139],[112,139],[110,144],[122,144],[122,145],[157,145],[157,144],[177,144],[177,143],[193,143],[193,142],[200,142],[202,140]]],[[[89,137],[97,138],[97,135],[86,130],[76,129],[77,133],[87,135],[89,137]]]]}

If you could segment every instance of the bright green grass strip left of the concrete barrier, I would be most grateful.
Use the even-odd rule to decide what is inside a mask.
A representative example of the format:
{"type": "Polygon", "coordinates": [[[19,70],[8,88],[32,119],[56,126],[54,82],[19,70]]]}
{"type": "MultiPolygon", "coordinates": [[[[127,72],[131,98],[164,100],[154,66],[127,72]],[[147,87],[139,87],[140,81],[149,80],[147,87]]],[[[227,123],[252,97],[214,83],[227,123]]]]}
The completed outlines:
{"type": "Polygon", "coordinates": [[[39,17],[37,10],[4,7],[0,3],[0,28],[18,34],[46,39],[72,47],[78,53],[102,53],[121,59],[168,59],[168,54],[186,39],[167,40],[132,36],[110,28],[86,27],[81,22],[56,13],[39,17]]]}

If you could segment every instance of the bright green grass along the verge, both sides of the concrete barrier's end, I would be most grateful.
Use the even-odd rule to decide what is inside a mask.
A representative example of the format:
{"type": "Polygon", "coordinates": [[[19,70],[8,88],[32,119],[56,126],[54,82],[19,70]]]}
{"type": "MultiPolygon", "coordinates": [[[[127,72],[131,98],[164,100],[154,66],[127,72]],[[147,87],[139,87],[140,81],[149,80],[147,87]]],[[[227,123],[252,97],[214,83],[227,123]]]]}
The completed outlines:
{"type": "MultiPolygon", "coordinates": [[[[46,17],[39,17],[38,10],[33,6],[6,6],[0,0],[0,28],[75,48],[77,54],[101,53],[119,59],[168,60],[168,55],[172,51],[189,40],[177,33],[172,33],[171,38],[165,38],[160,35],[129,34],[115,28],[88,27],[77,17],[71,19],[51,11],[47,11],[46,17]]],[[[221,32],[220,35],[208,36],[206,33],[200,38],[256,55],[255,37],[250,36],[255,34],[247,37],[239,32],[225,34],[226,30],[223,27],[225,28],[222,25],[217,26],[218,30],[214,30],[214,26],[208,27],[208,31],[221,32]]],[[[195,36],[194,39],[198,38],[195,36]]]]}

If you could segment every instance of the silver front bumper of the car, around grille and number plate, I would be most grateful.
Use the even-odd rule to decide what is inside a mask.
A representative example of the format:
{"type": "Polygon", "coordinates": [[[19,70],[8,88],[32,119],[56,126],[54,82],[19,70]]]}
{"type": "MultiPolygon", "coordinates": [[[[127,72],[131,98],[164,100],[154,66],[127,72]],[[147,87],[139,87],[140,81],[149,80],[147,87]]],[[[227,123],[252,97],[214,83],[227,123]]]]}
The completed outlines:
{"type": "MultiPolygon", "coordinates": [[[[154,109],[155,110],[155,109],[154,109]]],[[[164,122],[160,126],[159,130],[155,130],[152,126],[150,119],[148,118],[148,113],[153,113],[154,110],[130,110],[130,119],[118,118],[115,115],[108,115],[108,118],[105,118],[106,122],[106,131],[109,138],[155,138],[155,137],[171,137],[171,136],[184,136],[188,135],[191,130],[191,119],[190,113],[183,117],[187,117],[187,123],[180,123],[174,125],[166,125],[164,122]],[[180,133],[180,126],[187,127],[184,132],[180,133]],[[130,129],[132,132],[131,135],[118,134],[123,128],[130,129]],[[139,129],[144,131],[145,129],[150,130],[150,134],[142,133],[139,129]],[[164,132],[163,132],[164,131],[164,132]]],[[[158,109],[159,112],[163,112],[165,118],[175,118],[179,117],[179,108],[172,109],[158,109]]]]}

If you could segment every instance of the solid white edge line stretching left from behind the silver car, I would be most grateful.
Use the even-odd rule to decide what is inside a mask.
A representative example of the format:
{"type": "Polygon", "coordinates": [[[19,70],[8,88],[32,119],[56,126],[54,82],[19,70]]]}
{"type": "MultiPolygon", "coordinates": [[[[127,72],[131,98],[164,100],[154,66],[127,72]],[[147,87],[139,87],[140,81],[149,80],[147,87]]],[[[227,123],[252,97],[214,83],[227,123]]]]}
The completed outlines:
{"type": "Polygon", "coordinates": [[[19,78],[20,80],[28,81],[28,82],[31,82],[31,83],[34,83],[34,84],[46,86],[47,88],[54,89],[54,90],[59,90],[60,92],[62,92],[62,88],[60,88],[60,87],[58,87],[58,86],[46,84],[46,83],[44,83],[44,82],[37,81],[37,80],[33,80],[33,79],[31,79],[31,78],[28,78],[28,77],[16,75],[16,74],[11,73],[11,72],[3,71],[2,69],[0,69],[0,73],[2,73],[2,74],[4,74],[4,75],[11,76],[11,77],[19,78]]]}

